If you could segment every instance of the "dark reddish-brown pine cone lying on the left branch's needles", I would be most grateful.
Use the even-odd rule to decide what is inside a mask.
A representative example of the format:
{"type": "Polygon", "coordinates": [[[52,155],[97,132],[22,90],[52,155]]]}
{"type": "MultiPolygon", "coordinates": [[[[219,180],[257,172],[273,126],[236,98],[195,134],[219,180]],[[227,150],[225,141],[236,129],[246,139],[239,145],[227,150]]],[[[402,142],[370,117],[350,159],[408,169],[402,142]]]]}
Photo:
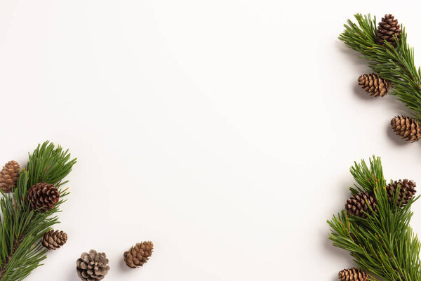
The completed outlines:
{"type": "Polygon", "coordinates": [[[50,183],[36,183],[28,191],[27,200],[31,202],[31,207],[38,211],[49,211],[55,207],[60,199],[60,193],[54,185],[50,183]]]}

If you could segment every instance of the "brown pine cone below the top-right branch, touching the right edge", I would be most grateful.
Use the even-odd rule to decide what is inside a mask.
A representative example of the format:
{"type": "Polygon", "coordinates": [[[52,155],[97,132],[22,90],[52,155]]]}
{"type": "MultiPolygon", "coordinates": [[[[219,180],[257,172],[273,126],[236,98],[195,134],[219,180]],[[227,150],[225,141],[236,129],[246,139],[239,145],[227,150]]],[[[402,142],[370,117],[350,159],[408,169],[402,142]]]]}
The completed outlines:
{"type": "Polygon", "coordinates": [[[390,121],[393,131],[405,141],[411,143],[421,138],[421,126],[415,119],[406,116],[395,116],[390,121]]]}

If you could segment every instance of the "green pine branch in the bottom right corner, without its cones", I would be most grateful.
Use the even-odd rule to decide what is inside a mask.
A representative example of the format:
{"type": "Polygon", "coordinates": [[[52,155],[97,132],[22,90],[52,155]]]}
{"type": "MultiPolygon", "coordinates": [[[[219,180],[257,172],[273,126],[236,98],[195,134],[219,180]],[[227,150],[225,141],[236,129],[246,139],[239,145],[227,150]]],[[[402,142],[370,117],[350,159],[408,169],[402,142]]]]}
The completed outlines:
{"type": "Polygon", "coordinates": [[[421,244],[409,225],[413,216],[410,207],[417,198],[404,206],[398,204],[399,186],[390,200],[379,157],[370,159],[370,167],[363,160],[355,164],[351,174],[356,181],[351,193],[374,194],[377,213],[370,209],[368,218],[360,218],[342,210],[328,221],[329,239],[334,246],[349,251],[355,263],[377,280],[420,281],[421,244]]]}

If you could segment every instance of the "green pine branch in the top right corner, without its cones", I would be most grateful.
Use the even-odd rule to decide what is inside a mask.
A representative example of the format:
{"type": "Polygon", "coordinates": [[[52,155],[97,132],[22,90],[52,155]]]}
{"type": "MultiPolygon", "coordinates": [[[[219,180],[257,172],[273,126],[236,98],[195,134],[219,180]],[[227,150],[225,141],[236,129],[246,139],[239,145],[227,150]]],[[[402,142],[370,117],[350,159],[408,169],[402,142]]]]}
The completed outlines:
{"type": "Polygon", "coordinates": [[[386,46],[380,46],[375,43],[375,17],[357,13],[355,18],[356,23],[348,20],[339,39],[359,51],[382,79],[392,82],[392,94],[405,103],[421,123],[421,68],[415,67],[414,51],[407,43],[405,28],[402,27],[400,40],[395,36],[396,47],[387,41],[386,46]]]}

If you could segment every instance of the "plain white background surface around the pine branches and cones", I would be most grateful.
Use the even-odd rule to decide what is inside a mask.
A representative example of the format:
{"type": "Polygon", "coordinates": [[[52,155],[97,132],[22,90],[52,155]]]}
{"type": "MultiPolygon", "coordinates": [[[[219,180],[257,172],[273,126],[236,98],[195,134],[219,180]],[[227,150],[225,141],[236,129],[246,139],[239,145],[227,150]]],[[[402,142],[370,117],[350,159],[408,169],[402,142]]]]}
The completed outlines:
{"type": "MultiPolygon", "coordinates": [[[[337,280],[328,241],[354,160],[421,182],[421,145],[394,136],[408,114],[371,98],[369,72],[338,40],[357,12],[394,13],[420,65],[417,1],[1,0],[0,162],[51,140],[79,159],[60,214],[69,240],[27,278],[337,280]],[[123,251],[152,240],[137,270],[123,251]]],[[[420,202],[413,226],[421,232],[420,202]]]]}

